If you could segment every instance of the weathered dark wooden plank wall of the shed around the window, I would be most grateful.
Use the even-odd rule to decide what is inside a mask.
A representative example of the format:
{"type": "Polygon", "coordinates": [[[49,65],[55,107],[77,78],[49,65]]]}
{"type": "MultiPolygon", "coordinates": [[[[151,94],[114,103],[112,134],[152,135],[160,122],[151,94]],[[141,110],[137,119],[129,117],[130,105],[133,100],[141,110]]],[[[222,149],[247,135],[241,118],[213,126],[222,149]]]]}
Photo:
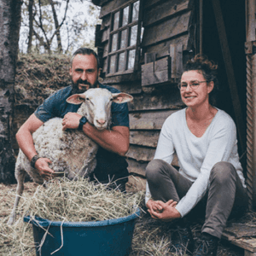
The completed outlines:
{"type": "MultiPolygon", "coordinates": [[[[94,2],[102,7],[102,25],[96,32],[96,46],[104,63],[103,72],[106,72],[110,14],[126,1],[94,2]]],[[[129,171],[143,177],[148,161],[154,158],[163,122],[171,113],[183,108],[177,78],[182,73],[183,62],[196,48],[197,26],[192,0],[147,0],[141,8],[140,69],[135,73],[105,78],[103,83],[134,97],[129,103],[131,146],[126,156],[129,171]]]]}

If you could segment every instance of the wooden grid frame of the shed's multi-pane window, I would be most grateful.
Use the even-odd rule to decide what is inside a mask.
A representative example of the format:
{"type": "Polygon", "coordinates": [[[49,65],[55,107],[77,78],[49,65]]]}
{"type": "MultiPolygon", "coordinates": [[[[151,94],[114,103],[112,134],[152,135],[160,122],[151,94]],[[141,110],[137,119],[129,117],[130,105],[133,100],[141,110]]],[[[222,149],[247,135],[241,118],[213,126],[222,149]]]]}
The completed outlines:
{"type": "Polygon", "coordinates": [[[110,32],[109,32],[109,44],[108,44],[108,56],[107,56],[107,68],[106,68],[106,77],[116,76],[116,75],[122,75],[126,73],[134,73],[138,70],[139,67],[139,55],[140,55],[140,47],[141,47],[141,31],[142,31],[142,21],[141,21],[141,10],[142,6],[142,0],[131,0],[127,3],[120,6],[118,9],[114,9],[111,13],[111,19],[110,19],[110,32]],[[138,9],[138,17],[137,20],[132,21],[132,10],[133,10],[133,4],[139,2],[139,9],[138,9]],[[125,26],[121,26],[123,22],[123,12],[126,7],[129,7],[128,12],[128,22],[125,24],[125,26]],[[119,13],[119,23],[118,28],[113,30],[114,26],[114,17],[115,14],[119,13]],[[128,45],[131,41],[131,28],[133,26],[137,26],[137,38],[136,38],[136,44],[128,45]],[[121,46],[121,33],[123,31],[126,32],[126,38],[125,38],[125,47],[120,49],[121,46]],[[117,49],[115,51],[112,51],[113,47],[113,35],[117,34],[117,49]],[[128,69],[129,65],[129,56],[128,54],[131,52],[131,50],[135,50],[135,56],[134,56],[134,65],[133,68],[128,69]],[[124,70],[118,71],[119,68],[119,55],[125,53],[125,68],[124,70]],[[114,72],[111,71],[111,58],[114,58],[114,72]]]}

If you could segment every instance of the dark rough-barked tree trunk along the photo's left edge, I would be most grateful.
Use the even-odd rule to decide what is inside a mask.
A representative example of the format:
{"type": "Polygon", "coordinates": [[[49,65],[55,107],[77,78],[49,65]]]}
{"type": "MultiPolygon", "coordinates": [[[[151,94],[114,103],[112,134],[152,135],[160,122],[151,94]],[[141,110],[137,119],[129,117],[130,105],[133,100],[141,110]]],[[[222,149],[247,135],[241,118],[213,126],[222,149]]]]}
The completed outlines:
{"type": "Polygon", "coordinates": [[[0,0],[0,183],[15,183],[11,146],[21,0],[0,0]]]}

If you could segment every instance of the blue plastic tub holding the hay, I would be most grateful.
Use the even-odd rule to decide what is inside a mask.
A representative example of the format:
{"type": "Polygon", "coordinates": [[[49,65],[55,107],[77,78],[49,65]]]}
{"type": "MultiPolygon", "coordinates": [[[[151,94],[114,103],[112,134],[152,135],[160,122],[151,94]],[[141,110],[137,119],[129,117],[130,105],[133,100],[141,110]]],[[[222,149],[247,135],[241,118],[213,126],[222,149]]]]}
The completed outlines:
{"type": "Polygon", "coordinates": [[[136,213],[124,218],[96,222],[61,223],[44,218],[37,218],[37,221],[34,221],[29,216],[25,217],[24,221],[32,223],[37,256],[128,256],[135,220],[139,215],[140,210],[137,209],[136,213]],[[48,228],[50,235],[47,234],[43,246],[39,248],[38,245],[48,228]],[[55,252],[60,247],[61,249],[55,252]]]}

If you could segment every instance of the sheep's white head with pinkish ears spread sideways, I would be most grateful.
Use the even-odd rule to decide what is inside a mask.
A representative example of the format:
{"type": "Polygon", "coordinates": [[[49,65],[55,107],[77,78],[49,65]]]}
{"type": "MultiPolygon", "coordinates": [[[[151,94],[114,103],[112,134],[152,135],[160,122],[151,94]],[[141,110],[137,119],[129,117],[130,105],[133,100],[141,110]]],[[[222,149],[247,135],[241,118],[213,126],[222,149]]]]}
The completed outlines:
{"type": "Polygon", "coordinates": [[[112,102],[130,102],[132,96],[125,93],[111,93],[107,89],[90,89],[82,94],[70,96],[67,102],[82,103],[78,113],[85,116],[98,130],[107,129],[111,124],[112,102]]]}

